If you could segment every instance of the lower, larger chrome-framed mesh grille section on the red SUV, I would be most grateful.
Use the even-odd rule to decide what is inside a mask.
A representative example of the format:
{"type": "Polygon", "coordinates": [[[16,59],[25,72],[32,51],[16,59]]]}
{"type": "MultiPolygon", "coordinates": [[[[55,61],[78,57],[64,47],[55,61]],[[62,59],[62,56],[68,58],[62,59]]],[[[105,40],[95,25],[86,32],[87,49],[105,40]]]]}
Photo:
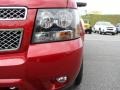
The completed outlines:
{"type": "Polygon", "coordinates": [[[0,51],[19,49],[22,33],[21,29],[0,29],[0,51]]]}

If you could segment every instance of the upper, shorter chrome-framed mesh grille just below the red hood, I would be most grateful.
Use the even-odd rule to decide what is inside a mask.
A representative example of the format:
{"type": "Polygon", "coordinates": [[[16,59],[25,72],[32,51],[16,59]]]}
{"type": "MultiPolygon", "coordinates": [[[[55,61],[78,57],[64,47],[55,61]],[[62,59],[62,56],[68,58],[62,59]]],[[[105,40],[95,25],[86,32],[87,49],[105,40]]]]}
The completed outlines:
{"type": "Polygon", "coordinates": [[[0,20],[25,20],[26,16],[25,7],[0,7],[0,20]]]}

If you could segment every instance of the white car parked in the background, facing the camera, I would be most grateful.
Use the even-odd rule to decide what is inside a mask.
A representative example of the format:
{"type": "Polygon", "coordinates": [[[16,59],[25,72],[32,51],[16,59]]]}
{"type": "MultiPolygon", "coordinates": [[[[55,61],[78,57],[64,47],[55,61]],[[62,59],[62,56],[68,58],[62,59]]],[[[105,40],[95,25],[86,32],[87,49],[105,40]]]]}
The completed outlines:
{"type": "Polygon", "coordinates": [[[112,23],[106,21],[96,22],[92,30],[95,33],[98,32],[99,34],[110,33],[112,35],[115,35],[117,33],[116,27],[112,23]]]}

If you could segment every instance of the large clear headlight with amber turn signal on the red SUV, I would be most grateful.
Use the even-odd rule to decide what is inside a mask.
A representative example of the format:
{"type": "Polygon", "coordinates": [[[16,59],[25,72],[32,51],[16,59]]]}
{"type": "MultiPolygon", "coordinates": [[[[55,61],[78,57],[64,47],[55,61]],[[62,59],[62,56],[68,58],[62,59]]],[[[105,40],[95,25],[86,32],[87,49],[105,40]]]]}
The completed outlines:
{"type": "Polygon", "coordinates": [[[39,9],[32,43],[70,40],[80,37],[76,9],[39,9]]]}

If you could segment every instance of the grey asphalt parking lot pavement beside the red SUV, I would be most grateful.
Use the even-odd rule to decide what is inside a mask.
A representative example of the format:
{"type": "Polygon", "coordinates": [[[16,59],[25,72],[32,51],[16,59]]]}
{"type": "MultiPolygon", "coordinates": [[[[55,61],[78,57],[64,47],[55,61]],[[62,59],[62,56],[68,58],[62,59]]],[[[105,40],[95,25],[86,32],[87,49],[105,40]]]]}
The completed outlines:
{"type": "Polygon", "coordinates": [[[69,90],[120,90],[120,34],[87,34],[80,86],[69,90]]]}

